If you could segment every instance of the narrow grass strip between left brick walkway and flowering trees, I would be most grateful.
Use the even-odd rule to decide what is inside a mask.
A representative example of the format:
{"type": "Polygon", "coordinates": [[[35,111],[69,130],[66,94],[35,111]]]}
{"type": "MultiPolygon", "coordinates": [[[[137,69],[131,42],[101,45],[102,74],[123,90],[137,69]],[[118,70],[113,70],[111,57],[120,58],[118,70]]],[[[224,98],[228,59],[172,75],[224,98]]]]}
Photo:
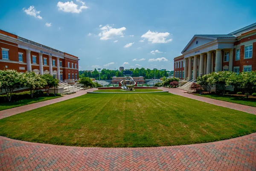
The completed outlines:
{"type": "Polygon", "coordinates": [[[24,106],[26,104],[32,104],[32,103],[37,103],[39,101],[46,101],[46,100],[50,100],[50,99],[55,99],[58,98],[60,96],[47,96],[47,97],[38,97],[35,99],[23,99],[23,100],[19,100],[17,102],[6,102],[6,103],[0,103],[0,110],[6,110],[6,109],[10,109],[13,107],[19,107],[19,106],[24,106]]]}

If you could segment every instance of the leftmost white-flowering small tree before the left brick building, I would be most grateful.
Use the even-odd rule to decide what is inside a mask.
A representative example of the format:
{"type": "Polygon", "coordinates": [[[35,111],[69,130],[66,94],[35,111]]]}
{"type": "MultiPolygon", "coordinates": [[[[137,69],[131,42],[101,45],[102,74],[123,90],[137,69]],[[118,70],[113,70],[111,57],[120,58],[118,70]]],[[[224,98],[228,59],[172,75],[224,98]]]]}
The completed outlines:
{"type": "Polygon", "coordinates": [[[13,90],[24,87],[24,74],[16,70],[0,70],[0,85],[6,92],[7,100],[11,101],[13,90]]]}

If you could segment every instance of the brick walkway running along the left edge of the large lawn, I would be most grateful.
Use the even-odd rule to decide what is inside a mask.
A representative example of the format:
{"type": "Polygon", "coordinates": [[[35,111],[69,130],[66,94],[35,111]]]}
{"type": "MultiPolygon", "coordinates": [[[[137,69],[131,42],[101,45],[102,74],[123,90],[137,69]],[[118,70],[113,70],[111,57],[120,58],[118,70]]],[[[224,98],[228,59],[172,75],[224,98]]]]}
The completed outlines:
{"type": "Polygon", "coordinates": [[[82,95],[86,94],[87,91],[94,91],[94,90],[97,90],[97,89],[96,88],[91,88],[91,89],[87,89],[87,90],[80,90],[80,91],[78,91],[74,94],[63,96],[63,97],[60,97],[60,98],[57,98],[57,99],[41,101],[41,102],[38,102],[38,103],[28,104],[28,105],[25,105],[25,106],[15,107],[15,108],[12,108],[12,109],[7,109],[7,110],[1,110],[0,111],[0,119],[6,118],[8,116],[16,115],[18,113],[23,113],[23,112],[26,112],[26,111],[29,111],[29,110],[33,110],[33,109],[36,109],[36,108],[39,108],[39,107],[47,106],[49,104],[54,104],[54,103],[58,103],[60,101],[64,101],[64,100],[67,100],[67,99],[72,99],[74,97],[82,96],[82,95]]]}

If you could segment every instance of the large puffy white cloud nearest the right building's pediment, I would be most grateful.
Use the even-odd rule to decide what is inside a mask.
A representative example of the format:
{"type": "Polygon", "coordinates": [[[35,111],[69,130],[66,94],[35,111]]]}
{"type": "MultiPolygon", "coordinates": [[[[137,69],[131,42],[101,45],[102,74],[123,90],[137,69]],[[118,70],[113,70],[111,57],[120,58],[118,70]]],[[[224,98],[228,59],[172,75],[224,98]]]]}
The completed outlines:
{"type": "Polygon", "coordinates": [[[166,40],[167,37],[169,37],[170,33],[159,33],[159,32],[151,32],[148,30],[144,35],[141,36],[141,38],[148,39],[148,42],[151,43],[168,43],[172,41],[172,39],[166,40]]]}

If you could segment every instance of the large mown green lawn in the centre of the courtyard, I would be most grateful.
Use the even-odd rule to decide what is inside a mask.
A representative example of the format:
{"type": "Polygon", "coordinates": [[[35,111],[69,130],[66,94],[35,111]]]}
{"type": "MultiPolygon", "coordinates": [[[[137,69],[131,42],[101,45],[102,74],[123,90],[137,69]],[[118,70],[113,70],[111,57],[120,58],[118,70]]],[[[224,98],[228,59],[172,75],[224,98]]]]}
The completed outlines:
{"type": "Polygon", "coordinates": [[[184,145],[256,132],[256,115],[171,93],[86,94],[0,119],[0,135],[99,147],[184,145]]]}

